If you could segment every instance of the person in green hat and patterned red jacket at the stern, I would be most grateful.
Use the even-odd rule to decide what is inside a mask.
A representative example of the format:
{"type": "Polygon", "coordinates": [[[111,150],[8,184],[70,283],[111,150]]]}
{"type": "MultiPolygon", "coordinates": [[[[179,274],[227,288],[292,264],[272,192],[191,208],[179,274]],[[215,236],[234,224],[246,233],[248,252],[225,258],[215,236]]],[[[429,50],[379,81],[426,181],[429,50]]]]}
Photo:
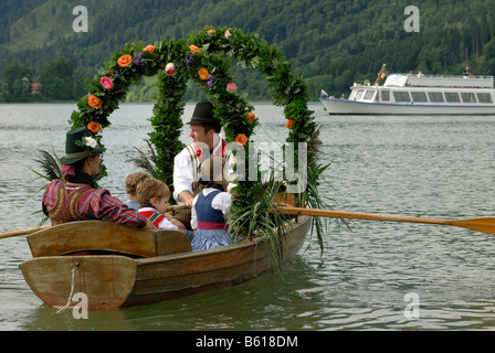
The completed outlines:
{"type": "Polygon", "coordinates": [[[62,179],[52,181],[43,194],[43,212],[52,224],[83,220],[106,220],[135,228],[156,229],[148,218],[113,197],[106,189],[95,189],[99,173],[99,147],[85,127],[66,135],[62,179]]]}

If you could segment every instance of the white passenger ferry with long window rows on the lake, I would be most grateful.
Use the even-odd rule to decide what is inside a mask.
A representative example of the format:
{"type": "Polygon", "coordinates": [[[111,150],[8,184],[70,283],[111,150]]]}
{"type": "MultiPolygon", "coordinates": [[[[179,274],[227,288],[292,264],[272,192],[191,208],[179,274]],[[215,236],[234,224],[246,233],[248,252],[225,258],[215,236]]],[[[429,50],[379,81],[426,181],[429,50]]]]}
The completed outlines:
{"type": "Polygon", "coordinates": [[[330,115],[495,115],[493,76],[391,74],[382,86],[385,67],[375,85],[354,84],[348,99],[320,101],[330,115]]]}

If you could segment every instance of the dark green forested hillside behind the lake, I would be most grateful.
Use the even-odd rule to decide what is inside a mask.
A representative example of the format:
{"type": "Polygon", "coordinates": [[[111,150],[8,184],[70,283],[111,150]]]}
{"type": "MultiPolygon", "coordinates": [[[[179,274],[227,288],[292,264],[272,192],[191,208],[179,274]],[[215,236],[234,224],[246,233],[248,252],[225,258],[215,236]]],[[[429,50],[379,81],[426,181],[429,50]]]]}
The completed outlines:
{"type": "MultiPolygon", "coordinates": [[[[389,72],[456,74],[470,65],[495,74],[493,0],[2,0],[0,22],[0,100],[75,99],[85,92],[84,78],[125,43],[186,38],[207,24],[256,32],[276,44],[315,99],[320,88],[347,94],[352,82],[373,79],[383,63],[389,72]],[[87,32],[73,30],[76,4],[87,9],[87,32]],[[410,4],[420,11],[420,32],[404,30],[410,4]],[[41,84],[36,95],[28,81],[41,84]]],[[[234,69],[250,99],[270,99],[263,77],[234,69]]],[[[155,89],[146,79],[128,99],[151,99],[155,89]]]]}

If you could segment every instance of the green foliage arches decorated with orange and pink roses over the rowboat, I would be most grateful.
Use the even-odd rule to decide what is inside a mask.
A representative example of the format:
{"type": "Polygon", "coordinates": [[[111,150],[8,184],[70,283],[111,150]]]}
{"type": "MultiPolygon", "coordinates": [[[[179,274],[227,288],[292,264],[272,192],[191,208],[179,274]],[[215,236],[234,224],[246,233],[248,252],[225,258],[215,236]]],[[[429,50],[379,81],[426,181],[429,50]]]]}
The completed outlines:
{"type": "MultiPolygon", "coordinates": [[[[252,113],[253,107],[236,93],[235,82],[229,72],[231,57],[265,75],[274,104],[284,106],[288,129],[286,141],[308,143],[308,188],[298,195],[298,202],[320,206],[316,186],[326,167],[316,161],[318,130],[313,111],[307,108],[309,95],[306,84],[292,72],[278,49],[268,45],[257,34],[245,34],[232,28],[206,26],[198,33],[189,34],[187,40],[164,40],[152,45],[128,43],[109,62],[105,62],[105,67],[93,81],[86,81],[88,95],[78,100],[78,110],[72,114],[71,122],[73,127],[87,126],[102,145],[102,131],[110,125],[108,117],[125,99],[128,87],[139,84],[141,76],[158,74],[159,97],[154,116],[149,119],[155,128],[149,133],[149,141],[157,153],[157,167],[164,171],[164,181],[170,185],[173,157],[183,148],[177,131],[182,128],[182,97],[189,79],[199,83],[207,92],[228,142],[236,141],[247,147],[246,142],[253,136],[259,121],[252,113]]],[[[106,174],[104,165],[103,174],[106,174]]],[[[253,214],[253,204],[257,202],[260,188],[261,182],[245,181],[239,182],[233,190],[235,201],[232,212],[240,218],[244,215],[245,222],[241,223],[246,234],[259,231],[253,226],[256,224],[253,220],[257,217],[253,214]],[[251,214],[246,214],[247,210],[251,214]]],[[[263,216],[267,214],[261,213],[263,216]]]]}

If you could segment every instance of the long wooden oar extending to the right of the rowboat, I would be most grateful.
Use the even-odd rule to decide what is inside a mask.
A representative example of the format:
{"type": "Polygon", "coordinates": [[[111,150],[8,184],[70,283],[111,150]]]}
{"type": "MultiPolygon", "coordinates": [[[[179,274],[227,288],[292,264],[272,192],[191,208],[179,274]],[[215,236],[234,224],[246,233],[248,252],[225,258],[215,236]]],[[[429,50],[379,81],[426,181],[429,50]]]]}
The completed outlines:
{"type": "Polygon", "coordinates": [[[280,210],[282,212],[286,212],[293,215],[450,225],[481,233],[495,234],[495,217],[471,218],[471,220],[435,220],[435,218],[420,218],[411,216],[397,216],[391,214],[376,214],[376,213],[347,212],[347,211],[319,210],[319,208],[302,208],[292,206],[281,206],[280,210]]]}

